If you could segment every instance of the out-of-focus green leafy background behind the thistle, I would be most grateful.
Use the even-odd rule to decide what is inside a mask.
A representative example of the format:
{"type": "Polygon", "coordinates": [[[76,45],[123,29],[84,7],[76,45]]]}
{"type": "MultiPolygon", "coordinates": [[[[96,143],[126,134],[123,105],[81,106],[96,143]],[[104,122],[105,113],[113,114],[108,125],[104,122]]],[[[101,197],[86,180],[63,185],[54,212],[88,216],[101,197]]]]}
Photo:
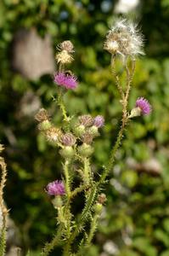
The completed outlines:
{"type": "MultiPolygon", "coordinates": [[[[101,170],[121,119],[110,55],[103,50],[105,33],[115,17],[114,6],[114,1],[105,0],[0,2],[0,137],[8,163],[6,202],[20,229],[23,251],[30,247],[32,256],[39,255],[36,250],[56,228],[55,211],[43,188],[60,177],[62,170],[58,152],[38,134],[33,116],[19,114],[25,91],[39,98],[55,123],[61,119],[52,100],[55,85],[51,77],[30,81],[12,70],[14,32],[36,27],[42,37],[51,35],[54,49],[65,39],[75,44],[72,68],[80,84],[65,96],[65,103],[70,113],[104,115],[106,125],[95,143],[93,157],[93,170],[101,170]],[[103,9],[103,2],[109,2],[110,9],[103,9]]],[[[153,113],[134,119],[127,127],[106,187],[108,201],[99,231],[88,255],[99,255],[106,241],[113,241],[117,247],[118,254],[110,255],[169,255],[169,1],[141,1],[134,15],[143,28],[146,55],[137,62],[130,108],[138,96],[145,96],[153,113]],[[133,160],[135,164],[130,165],[133,160]],[[149,160],[158,162],[159,172],[155,172],[156,162],[146,166],[149,160]]]]}

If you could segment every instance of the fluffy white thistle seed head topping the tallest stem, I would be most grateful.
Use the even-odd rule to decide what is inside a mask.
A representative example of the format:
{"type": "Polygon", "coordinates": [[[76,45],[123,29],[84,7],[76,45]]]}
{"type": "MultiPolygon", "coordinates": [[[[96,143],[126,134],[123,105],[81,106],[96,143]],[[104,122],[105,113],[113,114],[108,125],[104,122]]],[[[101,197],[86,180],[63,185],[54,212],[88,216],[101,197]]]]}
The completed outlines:
{"type": "Polygon", "coordinates": [[[138,31],[137,25],[126,19],[115,20],[114,26],[107,33],[104,49],[110,54],[119,54],[123,57],[144,55],[143,36],[138,31]]]}

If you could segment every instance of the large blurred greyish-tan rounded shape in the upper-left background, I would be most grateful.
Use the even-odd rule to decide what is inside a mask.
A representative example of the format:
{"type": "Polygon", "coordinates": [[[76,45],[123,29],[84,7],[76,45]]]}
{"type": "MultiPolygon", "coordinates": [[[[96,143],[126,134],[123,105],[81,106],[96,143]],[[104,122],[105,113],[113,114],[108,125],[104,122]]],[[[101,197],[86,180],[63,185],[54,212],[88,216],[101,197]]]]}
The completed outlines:
{"type": "Polygon", "coordinates": [[[54,52],[51,38],[41,38],[37,30],[20,30],[14,36],[12,65],[27,79],[39,79],[47,73],[54,73],[54,52]]]}

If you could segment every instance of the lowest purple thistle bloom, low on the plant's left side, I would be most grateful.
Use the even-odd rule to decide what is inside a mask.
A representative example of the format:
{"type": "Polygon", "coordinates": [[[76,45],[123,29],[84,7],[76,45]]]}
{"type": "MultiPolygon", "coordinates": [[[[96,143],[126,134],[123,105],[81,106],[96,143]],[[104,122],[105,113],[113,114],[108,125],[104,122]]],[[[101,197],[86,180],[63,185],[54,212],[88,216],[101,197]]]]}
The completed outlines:
{"type": "Polygon", "coordinates": [[[64,183],[61,180],[55,180],[52,183],[48,183],[46,187],[46,192],[48,193],[48,195],[64,195],[64,183]]]}

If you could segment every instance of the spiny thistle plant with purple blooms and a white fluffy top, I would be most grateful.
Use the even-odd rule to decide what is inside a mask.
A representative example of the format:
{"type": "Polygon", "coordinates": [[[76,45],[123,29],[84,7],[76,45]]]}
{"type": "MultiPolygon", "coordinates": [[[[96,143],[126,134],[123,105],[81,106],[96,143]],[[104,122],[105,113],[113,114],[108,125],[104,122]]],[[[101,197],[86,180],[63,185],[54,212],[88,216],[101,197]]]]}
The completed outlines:
{"type": "Polygon", "coordinates": [[[69,90],[76,90],[79,86],[76,75],[67,71],[67,65],[74,61],[74,46],[70,41],[65,41],[59,44],[57,49],[58,68],[54,75],[54,83],[57,104],[63,118],[62,126],[53,125],[48,112],[43,108],[36,115],[39,130],[59,149],[59,154],[63,158],[62,177],[60,180],[51,181],[46,187],[46,193],[57,211],[58,228],[52,241],[46,243],[41,254],[48,255],[54,247],[60,246],[63,248],[64,256],[75,256],[87,253],[87,248],[97,230],[106,201],[102,189],[113,169],[115,154],[121,145],[127,124],[136,116],[149,114],[151,106],[147,100],[139,97],[132,110],[128,110],[135,62],[138,55],[144,55],[143,37],[132,22],[117,19],[107,33],[104,49],[111,55],[110,68],[121,98],[121,128],[110,152],[109,162],[105,163],[100,173],[93,174],[91,167],[93,141],[99,137],[99,131],[104,126],[104,117],[101,115],[93,117],[91,114],[76,117],[67,112],[64,96],[69,90]],[[116,64],[119,61],[121,61],[121,75],[123,73],[126,75],[126,84],[121,83],[121,76],[117,72],[116,64]],[[83,207],[82,212],[75,216],[72,206],[78,196],[82,198],[83,207]]]}

